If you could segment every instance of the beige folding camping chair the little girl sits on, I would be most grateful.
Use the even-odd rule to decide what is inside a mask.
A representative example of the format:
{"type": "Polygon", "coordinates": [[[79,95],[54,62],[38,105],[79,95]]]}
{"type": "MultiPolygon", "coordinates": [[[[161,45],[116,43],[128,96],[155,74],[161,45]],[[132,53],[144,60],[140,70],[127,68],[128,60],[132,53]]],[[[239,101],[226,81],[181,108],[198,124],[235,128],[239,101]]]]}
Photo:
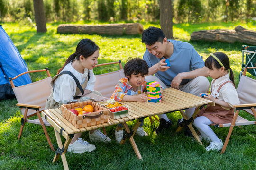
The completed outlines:
{"type": "Polygon", "coordinates": [[[234,126],[256,124],[256,121],[249,121],[249,120],[238,115],[240,110],[244,110],[247,113],[253,115],[256,119],[256,109],[255,109],[255,107],[256,107],[256,80],[246,76],[247,69],[253,69],[253,68],[256,68],[256,67],[245,68],[243,75],[241,76],[241,79],[239,81],[237,92],[238,92],[240,104],[233,106],[236,109],[236,112],[234,114],[234,119],[232,120],[232,122],[225,123],[225,124],[218,124],[218,125],[211,124],[215,127],[230,127],[229,133],[226,137],[225,143],[220,152],[221,154],[223,154],[226,150],[226,147],[228,145],[229,138],[231,136],[234,126]]]}

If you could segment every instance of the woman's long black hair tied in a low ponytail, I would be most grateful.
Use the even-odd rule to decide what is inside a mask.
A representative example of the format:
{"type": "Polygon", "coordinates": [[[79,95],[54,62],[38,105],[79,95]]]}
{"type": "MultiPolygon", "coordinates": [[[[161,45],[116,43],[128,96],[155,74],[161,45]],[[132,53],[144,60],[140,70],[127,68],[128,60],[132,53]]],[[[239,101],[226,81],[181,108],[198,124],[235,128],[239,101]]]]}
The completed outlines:
{"type": "Polygon", "coordinates": [[[63,70],[63,68],[74,59],[80,60],[80,56],[82,55],[84,58],[90,57],[94,54],[95,51],[99,50],[99,46],[93,42],[92,40],[85,38],[82,39],[76,46],[75,53],[71,54],[67,60],[65,61],[64,65],[58,70],[57,74],[63,70]]]}

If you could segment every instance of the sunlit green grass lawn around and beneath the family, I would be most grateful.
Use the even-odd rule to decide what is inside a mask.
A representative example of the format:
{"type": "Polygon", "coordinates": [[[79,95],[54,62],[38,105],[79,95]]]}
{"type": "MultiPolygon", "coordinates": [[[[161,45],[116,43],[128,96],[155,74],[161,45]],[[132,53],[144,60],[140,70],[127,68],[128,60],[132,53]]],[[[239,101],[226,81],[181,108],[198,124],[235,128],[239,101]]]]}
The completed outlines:
{"type": "MultiPolygon", "coordinates": [[[[141,35],[88,35],[88,34],[57,34],[59,23],[48,24],[45,34],[37,34],[30,26],[20,26],[17,23],[3,23],[2,26],[9,34],[21,56],[25,59],[29,70],[48,67],[54,76],[57,70],[64,64],[65,59],[75,51],[77,43],[82,38],[90,38],[100,47],[98,62],[112,62],[121,60],[123,65],[129,57],[142,57],[145,46],[140,42],[141,35]]],[[[82,24],[80,22],[80,24],[82,24]]],[[[87,23],[88,24],[88,23],[87,23]]],[[[91,23],[89,23],[91,24],[91,23]]],[[[191,43],[203,59],[211,52],[221,51],[229,56],[231,68],[235,74],[236,85],[241,69],[241,45],[221,42],[190,42],[190,34],[201,29],[234,29],[241,25],[249,30],[256,31],[255,23],[204,23],[204,24],[176,24],[173,27],[174,37],[177,40],[191,43]]],[[[143,23],[148,26],[160,26],[157,23],[143,23]]],[[[117,66],[118,67],[118,66],[117,66]]],[[[95,68],[95,74],[113,71],[113,67],[95,68]]],[[[30,74],[32,81],[45,78],[46,75],[30,74]]],[[[250,76],[250,75],[248,75],[250,76]]],[[[250,76],[252,77],[252,76],[250,76]]],[[[209,79],[210,80],[210,79],[209,79]]],[[[20,118],[22,114],[15,106],[16,99],[0,101],[0,169],[1,170],[62,170],[61,159],[52,163],[55,155],[51,151],[42,127],[40,125],[26,124],[22,138],[17,140],[20,118]]],[[[253,120],[252,116],[247,119],[253,120]]],[[[218,152],[205,152],[196,142],[186,138],[183,133],[174,135],[177,128],[177,119],[181,118],[178,112],[169,113],[167,116],[173,120],[171,130],[159,136],[153,131],[158,126],[154,121],[151,125],[149,119],[145,120],[145,130],[149,136],[137,137],[135,141],[143,157],[138,160],[129,141],[124,145],[114,142],[115,126],[107,127],[108,136],[113,140],[109,144],[92,143],[97,149],[91,153],[74,154],[66,153],[70,170],[86,169],[136,169],[136,170],[255,170],[256,168],[256,128],[255,125],[235,127],[230,138],[226,152],[220,155],[218,152]]],[[[128,122],[132,128],[134,121],[128,122]]],[[[213,127],[214,128],[214,127],[213,127]]],[[[47,127],[55,149],[57,143],[52,127],[47,127]]],[[[217,136],[222,140],[229,128],[214,128],[217,136]]],[[[82,134],[82,138],[89,140],[88,133],[82,134]]],[[[64,138],[63,142],[64,142],[64,138]]],[[[207,142],[203,141],[205,146],[207,142]]]]}

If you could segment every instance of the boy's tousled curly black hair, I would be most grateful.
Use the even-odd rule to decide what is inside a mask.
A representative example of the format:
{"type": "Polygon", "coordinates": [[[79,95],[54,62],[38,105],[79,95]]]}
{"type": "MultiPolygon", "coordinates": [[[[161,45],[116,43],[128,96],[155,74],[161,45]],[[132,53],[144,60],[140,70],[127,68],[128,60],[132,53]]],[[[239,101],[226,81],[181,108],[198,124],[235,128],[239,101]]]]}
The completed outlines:
{"type": "Polygon", "coordinates": [[[146,61],[140,58],[134,58],[129,60],[124,66],[125,76],[131,76],[132,74],[137,75],[140,73],[141,76],[148,74],[148,65],[146,61]]]}

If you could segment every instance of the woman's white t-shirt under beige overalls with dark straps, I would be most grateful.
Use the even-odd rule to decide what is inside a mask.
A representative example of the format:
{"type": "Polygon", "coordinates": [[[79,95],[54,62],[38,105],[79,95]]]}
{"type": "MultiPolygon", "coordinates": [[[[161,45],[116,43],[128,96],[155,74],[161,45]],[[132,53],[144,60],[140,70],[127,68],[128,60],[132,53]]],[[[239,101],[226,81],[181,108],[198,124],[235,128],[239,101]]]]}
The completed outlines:
{"type": "MultiPolygon", "coordinates": [[[[68,63],[61,72],[63,71],[70,71],[73,73],[73,75],[78,79],[80,85],[82,85],[87,78],[88,69],[84,69],[84,73],[79,73],[76,71],[71,63],[68,63]]],[[[90,79],[87,82],[86,90],[94,91],[94,85],[96,81],[96,77],[91,70],[90,72],[90,79]]],[[[75,90],[76,90],[76,83],[72,76],[68,74],[60,75],[54,82],[54,92],[53,92],[53,98],[56,102],[59,102],[60,100],[74,100],[73,97],[75,96],[75,90]]]]}

